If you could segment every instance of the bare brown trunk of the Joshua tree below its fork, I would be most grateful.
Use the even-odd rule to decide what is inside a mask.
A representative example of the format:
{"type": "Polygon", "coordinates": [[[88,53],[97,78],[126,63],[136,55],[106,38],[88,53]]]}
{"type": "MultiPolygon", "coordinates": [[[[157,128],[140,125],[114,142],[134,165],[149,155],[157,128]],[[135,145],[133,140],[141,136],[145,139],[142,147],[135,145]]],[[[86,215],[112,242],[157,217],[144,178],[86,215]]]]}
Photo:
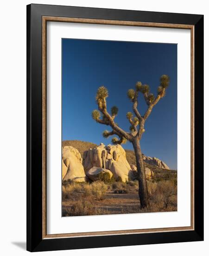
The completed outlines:
{"type": "Polygon", "coordinates": [[[136,156],[136,166],[139,181],[139,199],[141,208],[146,208],[149,204],[149,196],[146,184],[146,174],[144,168],[143,157],[141,153],[141,147],[139,139],[135,139],[133,142],[133,148],[136,156]]]}

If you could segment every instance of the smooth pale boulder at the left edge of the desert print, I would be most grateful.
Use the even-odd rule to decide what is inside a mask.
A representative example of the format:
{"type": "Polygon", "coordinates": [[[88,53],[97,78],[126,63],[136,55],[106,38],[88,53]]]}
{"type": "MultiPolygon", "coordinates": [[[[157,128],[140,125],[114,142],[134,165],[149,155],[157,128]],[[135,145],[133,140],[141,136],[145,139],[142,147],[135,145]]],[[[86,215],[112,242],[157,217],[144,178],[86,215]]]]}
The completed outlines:
{"type": "Polygon", "coordinates": [[[62,148],[62,178],[63,181],[85,182],[86,175],[82,166],[82,157],[76,148],[62,148]]]}

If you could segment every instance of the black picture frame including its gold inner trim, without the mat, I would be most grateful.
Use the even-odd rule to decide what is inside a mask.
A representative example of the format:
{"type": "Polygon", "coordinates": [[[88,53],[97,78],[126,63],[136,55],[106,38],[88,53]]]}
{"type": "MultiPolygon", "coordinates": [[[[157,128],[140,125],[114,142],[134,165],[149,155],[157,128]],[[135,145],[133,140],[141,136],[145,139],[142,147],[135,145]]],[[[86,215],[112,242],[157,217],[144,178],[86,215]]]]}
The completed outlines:
{"type": "Polygon", "coordinates": [[[31,4],[27,6],[27,250],[203,241],[203,15],[31,4]],[[190,227],[47,234],[46,24],[71,22],[190,30],[190,227]]]}

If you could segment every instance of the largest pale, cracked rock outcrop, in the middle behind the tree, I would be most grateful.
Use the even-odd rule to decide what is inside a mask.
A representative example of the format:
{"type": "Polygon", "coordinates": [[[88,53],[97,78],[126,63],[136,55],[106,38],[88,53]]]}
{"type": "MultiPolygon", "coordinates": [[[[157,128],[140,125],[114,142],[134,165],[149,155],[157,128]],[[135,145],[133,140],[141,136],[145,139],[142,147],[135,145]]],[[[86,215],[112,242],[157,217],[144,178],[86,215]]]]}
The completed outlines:
{"type": "Polygon", "coordinates": [[[131,167],[126,159],[126,152],[120,145],[105,146],[101,143],[97,148],[83,152],[83,167],[85,173],[92,167],[110,170],[116,180],[128,181],[131,167]]]}

